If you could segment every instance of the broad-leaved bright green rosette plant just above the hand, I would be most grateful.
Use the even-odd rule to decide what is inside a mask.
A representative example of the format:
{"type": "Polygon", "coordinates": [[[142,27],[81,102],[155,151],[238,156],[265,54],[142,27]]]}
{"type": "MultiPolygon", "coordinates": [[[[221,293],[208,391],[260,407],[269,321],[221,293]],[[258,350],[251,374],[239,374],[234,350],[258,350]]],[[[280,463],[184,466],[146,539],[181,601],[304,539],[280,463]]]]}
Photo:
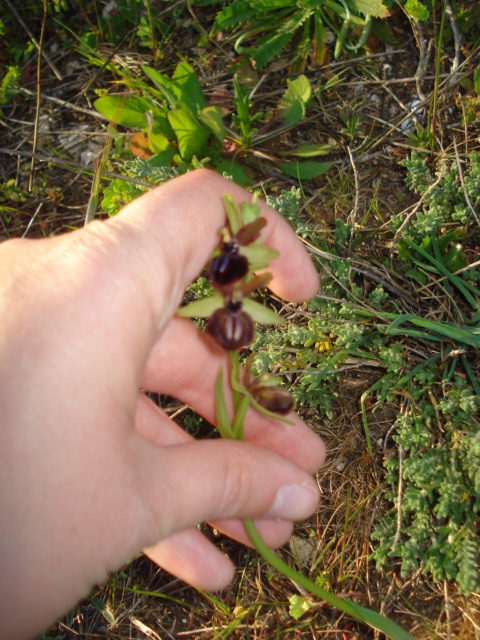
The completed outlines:
{"type": "MultiPolygon", "coordinates": [[[[130,181],[116,179],[104,193],[102,207],[109,215],[118,212],[149,185],[192,168],[213,166],[245,185],[248,183],[242,164],[245,156],[266,139],[297,126],[312,99],[310,82],[305,76],[287,80],[287,89],[273,116],[278,126],[268,127],[263,111],[252,113],[249,94],[234,76],[234,112],[232,126],[227,129],[221,108],[207,103],[195,71],[185,60],[177,65],[171,78],[147,66],[143,72],[151,84],[125,77],[125,84],[135,93],[106,95],[95,101],[95,108],[111,122],[136,131],[130,138],[130,147],[139,157],[121,167],[130,181]],[[260,122],[262,131],[256,128],[260,122]],[[145,184],[134,184],[132,180],[145,184]]],[[[118,146],[120,137],[116,136],[118,146]]],[[[286,175],[307,180],[328,171],[331,163],[304,158],[325,155],[331,149],[331,145],[303,145],[288,152],[300,161],[273,157],[271,161],[286,175]]]]}

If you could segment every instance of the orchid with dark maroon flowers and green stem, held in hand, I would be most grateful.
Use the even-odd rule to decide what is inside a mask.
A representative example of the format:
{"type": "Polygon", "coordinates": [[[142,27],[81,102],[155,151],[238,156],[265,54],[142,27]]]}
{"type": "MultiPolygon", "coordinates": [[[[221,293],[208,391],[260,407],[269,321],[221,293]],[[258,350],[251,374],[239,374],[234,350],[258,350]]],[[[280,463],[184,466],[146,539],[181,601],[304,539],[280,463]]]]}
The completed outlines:
{"type": "MultiPolygon", "coordinates": [[[[259,233],[265,221],[260,217],[260,208],[255,200],[253,204],[243,203],[239,206],[230,196],[224,196],[224,204],[227,224],[219,230],[219,248],[207,265],[210,279],[218,290],[217,300],[214,296],[208,296],[182,307],[178,313],[184,317],[193,317],[200,310],[202,315],[211,315],[206,331],[228,350],[230,356],[228,379],[233,407],[233,415],[230,415],[224,395],[224,371],[221,367],[215,388],[217,428],[223,438],[242,440],[243,420],[250,405],[270,417],[286,420],[283,415],[288,415],[293,403],[288,392],[279,388],[269,377],[263,376],[254,382],[248,379],[242,382],[240,379],[238,351],[250,344],[253,338],[250,327],[253,321],[244,309],[262,322],[283,323],[273,311],[265,308],[260,311],[261,305],[258,303],[253,306],[246,304],[249,300],[247,296],[258,286],[265,286],[269,280],[268,273],[256,276],[253,272],[265,268],[266,263],[278,254],[260,243],[259,233]]],[[[264,560],[312,595],[373,629],[382,631],[393,640],[412,640],[410,634],[389,618],[361,607],[348,598],[337,597],[292,569],[266,546],[251,520],[244,520],[243,525],[251,543],[264,560]]],[[[302,603],[292,602],[291,605],[294,616],[300,615],[299,608],[305,610],[302,603]]]]}

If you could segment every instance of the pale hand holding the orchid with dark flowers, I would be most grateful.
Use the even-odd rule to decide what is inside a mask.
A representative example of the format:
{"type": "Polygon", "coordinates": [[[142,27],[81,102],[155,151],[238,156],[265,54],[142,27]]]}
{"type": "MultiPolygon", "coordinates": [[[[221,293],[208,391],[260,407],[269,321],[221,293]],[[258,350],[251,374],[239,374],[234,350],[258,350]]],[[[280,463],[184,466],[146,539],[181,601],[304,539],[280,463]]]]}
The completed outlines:
{"type": "MultiPolygon", "coordinates": [[[[245,441],[196,442],[139,389],[214,424],[224,352],[175,317],[218,243],[222,195],[251,195],[201,170],[108,222],[0,245],[0,637],[29,638],[142,549],[205,590],[233,578],[196,525],[272,547],[318,503],[325,448],[253,410],[245,441]]],[[[288,224],[262,204],[262,242],[281,253],[270,288],[301,302],[318,278],[288,224]]]]}

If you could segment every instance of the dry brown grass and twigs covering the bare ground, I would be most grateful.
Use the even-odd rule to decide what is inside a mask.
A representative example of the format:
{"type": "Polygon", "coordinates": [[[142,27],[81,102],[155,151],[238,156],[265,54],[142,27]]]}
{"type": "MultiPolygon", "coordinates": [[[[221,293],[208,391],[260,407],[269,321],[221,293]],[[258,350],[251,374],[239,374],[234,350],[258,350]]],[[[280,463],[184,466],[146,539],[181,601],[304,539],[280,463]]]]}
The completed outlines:
{"type": "MultiPolygon", "coordinates": [[[[41,16],[24,17],[38,38],[41,16]]],[[[199,8],[195,8],[192,17],[185,7],[168,39],[159,43],[156,65],[168,73],[177,53],[183,52],[193,62],[207,95],[222,93],[228,99],[231,44],[214,44],[191,59],[192,42],[198,39],[195,26],[208,32],[211,17],[211,12],[199,8]]],[[[84,12],[79,10],[71,20],[79,31],[86,28],[84,12]]],[[[335,143],[336,150],[330,158],[333,170],[304,185],[306,199],[314,220],[326,234],[333,232],[337,218],[363,225],[364,240],[353,249],[353,258],[364,269],[369,267],[370,259],[390,250],[382,246],[385,221],[392,214],[407,215],[415,204],[404,184],[401,161],[408,155],[411,143],[402,127],[413,118],[414,94],[420,95],[419,108],[427,110],[433,96],[432,58],[415,73],[420,45],[423,42],[428,50],[433,33],[425,30],[420,38],[419,32],[413,33],[405,22],[398,24],[401,26],[393,26],[393,32],[401,44],[388,52],[379,41],[372,41],[372,53],[365,58],[327,61],[322,68],[308,66],[305,72],[314,86],[323,85],[334,74],[341,73],[342,80],[320,95],[318,107],[301,127],[258,149],[271,155],[280,147],[293,147],[299,142],[335,143]],[[357,118],[358,126],[352,135],[342,131],[345,127],[339,113],[357,118]]],[[[23,27],[18,23],[17,28],[23,27]]],[[[18,97],[2,107],[0,182],[13,180],[14,187],[7,194],[9,197],[4,195],[0,201],[1,239],[59,234],[84,222],[94,169],[87,160],[101,153],[108,135],[107,123],[92,109],[94,90],[110,88],[118,76],[107,67],[92,66],[74,48],[65,47],[60,31],[58,25],[47,21],[42,48],[48,53],[50,64],[41,56],[37,74],[37,58],[33,58],[24,69],[18,97]],[[60,71],[62,80],[56,77],[51,63],[60,71]],[[88,150],[90,155],[85,153],[88,150]]],[[[452,155],[454,139],[461,154],[480,148],[478,120],[468,128],[462,124],[462,80],[478,65],[479,51],[464,43],[460,66],[452,75],[453,44],[445,48],[442,61],[435,154],[452,155]]],[[[116,47],[105,45],[105,52],[110,65],[135,73],[141,64],[152,63],[151,52],[137,49],[128,39],[116,47]]],[[[8,64],[5,50],[2,56],[8,64]]],[[[287,59],[272,65],[258,89],[256,102],[263,108],[274,104],[278,87],[284,86],[287,76],[287,59]]],[[[423,122],[425,113],[419,110],[417,117],[423,122]]],[[[289,188],[292,181],[279,177],[260,158],[252,156],[251,161],[259,184],[267,193],[289,188]]],[[[105,178],[110,175],[115,175],[114,165],[107,167],[105,178]]],[[[373,262],[370,268],[375,269],[373,262]]],[[[281,553],[307,575],[320,576],[335,593],[392,616],[419,639],[479,638],[478,595],[459,596],[453,584],[435,585],[421,574],[404,580],[395,566],[380,574],[369,560],[372,523],[382,510],[383,467],[381,456],[371,459],[368,455],[359,399],[377,377],[374,367],[358,363],[344,373],[333,420],[320,418],[314,411],[305,412],[305,419],[323,436],[329,450],[328,461],[318,475],[322,504],[312,521],[298,527],[292,544],[281,553]]],[[[392,405],[370,413],[369,426],[375,441],[385,438],[397,410],[392,405]]],[[[384,455],[396,455],[396,450],[386,448],[384,455]]],[[[201,594],[140,557],[94,590],[50,629],[48,637],[375,637],[370,630],[322,604],[310,609],[301,620],[293,620],[288,613],[288,598],[299,593],[295,584],[270,572],[252,551],[218,537],[208,528],[206,534],[217,539],[238,568],[235,583],[224,593],[215,597],[201,594]]]]}

